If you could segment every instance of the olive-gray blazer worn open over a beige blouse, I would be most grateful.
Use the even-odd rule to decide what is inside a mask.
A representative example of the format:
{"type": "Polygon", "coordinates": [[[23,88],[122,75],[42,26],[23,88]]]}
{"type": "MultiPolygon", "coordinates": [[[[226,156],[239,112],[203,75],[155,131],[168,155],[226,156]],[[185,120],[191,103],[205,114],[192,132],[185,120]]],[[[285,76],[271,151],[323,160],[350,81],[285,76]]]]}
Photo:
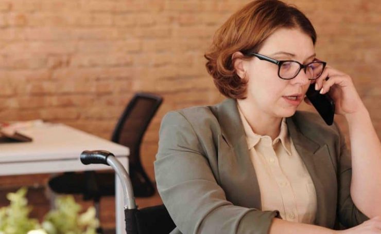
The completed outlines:
{"type": "MultiPolygon", "coordinates": [[[[351,154],[337,125],[304,111],[287,118],[287,125],[315,185],[315,224],[366,221],[351,199],[351,154]]],[[[177,226],[171,233],[268,233],[279,213],[261,210],[236,100],[168,112],[159,135],[155,178],[177,226]]]]}

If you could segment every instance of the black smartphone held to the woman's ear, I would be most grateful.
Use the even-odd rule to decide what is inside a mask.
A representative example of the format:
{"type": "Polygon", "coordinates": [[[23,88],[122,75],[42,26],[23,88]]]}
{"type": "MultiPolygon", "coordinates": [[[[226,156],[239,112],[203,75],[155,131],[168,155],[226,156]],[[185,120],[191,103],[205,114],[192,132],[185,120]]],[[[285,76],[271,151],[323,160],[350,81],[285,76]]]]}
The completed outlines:
{"type": "Polygon", "coordinates": [[[327,125],[332,125],[335,116],[335,103],[330,95],[328,93],[320,94],[320,90],[315,90],[315,83],[313,83],[308,87],[306,96],[324,122],[327,125]]]}

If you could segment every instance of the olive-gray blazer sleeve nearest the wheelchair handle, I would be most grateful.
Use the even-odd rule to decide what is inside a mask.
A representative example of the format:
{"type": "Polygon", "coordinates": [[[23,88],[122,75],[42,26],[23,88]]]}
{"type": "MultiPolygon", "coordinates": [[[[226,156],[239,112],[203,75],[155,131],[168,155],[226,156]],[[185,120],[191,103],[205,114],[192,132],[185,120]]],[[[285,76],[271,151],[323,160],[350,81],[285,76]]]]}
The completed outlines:
{"type": "Polygon", "coordinates": [[[159,136],[154,163],[158,191],[182,233],[268,233],[278,211],[226,200],[194,128],[181,112],[164,116],[159,136]]]}

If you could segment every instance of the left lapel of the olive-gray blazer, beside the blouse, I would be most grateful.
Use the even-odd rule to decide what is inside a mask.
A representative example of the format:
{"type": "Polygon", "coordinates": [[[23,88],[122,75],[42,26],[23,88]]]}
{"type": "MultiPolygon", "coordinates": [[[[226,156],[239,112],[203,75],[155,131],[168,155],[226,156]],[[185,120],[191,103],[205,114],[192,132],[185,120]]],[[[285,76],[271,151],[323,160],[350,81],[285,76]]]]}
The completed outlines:
{"type": "Polygon", "coordinates": [[[218,140],[218,167],[221,186],[235,205],[261,209],[261,193],[250,159],[237,103],[227,99],[214,106],[221,127],[218,140]]]}

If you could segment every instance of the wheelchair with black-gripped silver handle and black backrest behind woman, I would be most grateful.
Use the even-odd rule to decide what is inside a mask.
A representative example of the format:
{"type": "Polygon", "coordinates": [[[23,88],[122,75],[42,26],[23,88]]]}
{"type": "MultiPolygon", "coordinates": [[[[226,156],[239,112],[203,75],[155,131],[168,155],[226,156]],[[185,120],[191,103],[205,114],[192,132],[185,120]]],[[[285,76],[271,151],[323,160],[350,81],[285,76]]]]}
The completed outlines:
{"type": "Polygon", "coordinates": [[[105,164],[115,170],[124,192],[127,234],[168,234],[176,227],[164,205],[137,209],[130,177],[114,154],[105,150],[85,150],[80,159],[85,165],[105,164]]]}

